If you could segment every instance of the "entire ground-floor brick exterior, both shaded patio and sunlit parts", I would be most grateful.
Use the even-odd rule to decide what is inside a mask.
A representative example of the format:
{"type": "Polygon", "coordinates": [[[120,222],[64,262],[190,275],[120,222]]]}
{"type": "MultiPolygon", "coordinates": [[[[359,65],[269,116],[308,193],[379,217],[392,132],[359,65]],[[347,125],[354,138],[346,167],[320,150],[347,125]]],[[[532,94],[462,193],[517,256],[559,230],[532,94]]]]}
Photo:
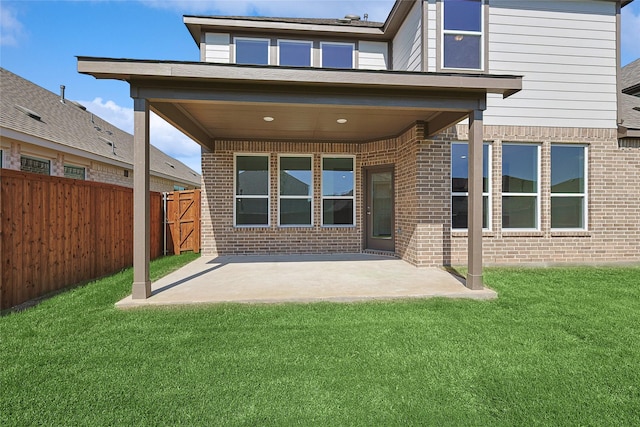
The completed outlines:
{"type": "MultiPolygon", "coordinates": [[[[451,231],[451,142],[465,141],[458,125],[425,139],[421,123],[397,138],[361,144],[217,141],[203,153],[202,241],[205,255],[361,252],[364,247],[363,168],[394,166],[396,254],[417,266],[463,265],[467,233],[451,231]],[[270,156],[270,226],[233,226],[234,153],[270,156]],[[278,227],[278,154],[312,154],[314,224],[278,227]],[[356,225],[322,227],[321,156],[355,155],[356,225]]],[[[492,145],[492,228],[483,237],[485,264],[640,261],[640,150],[619,148],[615,130],[486,126],[492,145]],[[503,142],[541,144],[540,231],[501,228],[503,142]],[[550,147],[588,146],[587,231],[550,227],[550,147]]]]}

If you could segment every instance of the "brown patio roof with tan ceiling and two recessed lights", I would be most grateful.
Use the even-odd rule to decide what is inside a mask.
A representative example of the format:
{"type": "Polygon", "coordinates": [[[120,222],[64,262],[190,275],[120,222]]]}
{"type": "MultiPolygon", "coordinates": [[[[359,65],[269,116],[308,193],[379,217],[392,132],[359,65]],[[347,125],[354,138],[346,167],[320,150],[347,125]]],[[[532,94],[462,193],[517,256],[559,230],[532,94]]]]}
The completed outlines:
{"type": "Polygon", "coordinates": [[[521,88],[517,76],[87,57],[78,58],[78,71],[129,82],[133,98],[147,99],[153,111],[209,149],[229,139],[371,141],[415,122],[424,122],[431,135],[483,110],[487,93],[507,97],[521,88]]]}

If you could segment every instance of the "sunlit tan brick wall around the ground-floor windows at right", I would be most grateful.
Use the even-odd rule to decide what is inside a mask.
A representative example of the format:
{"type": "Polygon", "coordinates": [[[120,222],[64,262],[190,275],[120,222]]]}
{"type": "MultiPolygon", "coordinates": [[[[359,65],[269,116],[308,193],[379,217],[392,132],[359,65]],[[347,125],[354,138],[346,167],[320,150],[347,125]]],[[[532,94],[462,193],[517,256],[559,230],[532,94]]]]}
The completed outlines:
{"type": "MultiPolygon", "coordinates": [[[[466,140],[458,126],[446,136],[466,140]]],[[[485,264],[640,261],[640,149],[619,148],[616,130],[486,126],[492,145],[492,227],[483,235],[485,264]],[[502,229],[502,143],[541,144],[540,231],[502,229]],[[588,147],[587,231],[552,231],[551,145],[588,147]]],[[[452,233],[451,262],[466,264],[467,234],[452,233]]]]}

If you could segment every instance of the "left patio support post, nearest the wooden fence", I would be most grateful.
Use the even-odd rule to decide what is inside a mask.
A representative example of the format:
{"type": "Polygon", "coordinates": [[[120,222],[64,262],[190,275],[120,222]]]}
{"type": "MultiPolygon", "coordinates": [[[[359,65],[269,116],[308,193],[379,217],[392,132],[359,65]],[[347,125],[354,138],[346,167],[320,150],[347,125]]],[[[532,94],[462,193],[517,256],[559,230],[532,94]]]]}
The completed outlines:
{"type": "Polygon", "coordinates": [[[133,100],[133,299],[151,296],[149,261],[149,103],[133,100]]]}

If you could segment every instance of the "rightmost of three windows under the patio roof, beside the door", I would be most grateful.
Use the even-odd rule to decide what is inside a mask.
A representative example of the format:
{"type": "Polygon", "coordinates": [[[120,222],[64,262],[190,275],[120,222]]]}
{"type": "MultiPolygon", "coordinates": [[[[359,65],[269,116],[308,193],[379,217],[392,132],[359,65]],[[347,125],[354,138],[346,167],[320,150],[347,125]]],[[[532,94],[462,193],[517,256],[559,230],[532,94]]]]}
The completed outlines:
{"type": "Polygon", "coordinates": [[[355,225],[353,157],[322,159],[322,225],[355,225]]]}

